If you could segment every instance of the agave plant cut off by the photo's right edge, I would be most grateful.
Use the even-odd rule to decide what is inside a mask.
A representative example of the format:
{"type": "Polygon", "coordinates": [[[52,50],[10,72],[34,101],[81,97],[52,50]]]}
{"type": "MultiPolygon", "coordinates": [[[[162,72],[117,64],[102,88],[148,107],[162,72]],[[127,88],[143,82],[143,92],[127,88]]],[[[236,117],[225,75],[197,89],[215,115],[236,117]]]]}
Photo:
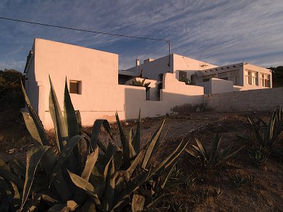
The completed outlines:
{"type": "Polygon", "coordinates": [[[278,107],[272,113],[270,121],[265,123],[262,119],[255,122],[254,119],[248,116],[250,125],[253,127],[253,132],[256,137],[258,145],[262,148],[271,148],[278,140],[283,131],[283,109],[278,107]],[[260,124],[263,126],[260,127],[260,124]]]}

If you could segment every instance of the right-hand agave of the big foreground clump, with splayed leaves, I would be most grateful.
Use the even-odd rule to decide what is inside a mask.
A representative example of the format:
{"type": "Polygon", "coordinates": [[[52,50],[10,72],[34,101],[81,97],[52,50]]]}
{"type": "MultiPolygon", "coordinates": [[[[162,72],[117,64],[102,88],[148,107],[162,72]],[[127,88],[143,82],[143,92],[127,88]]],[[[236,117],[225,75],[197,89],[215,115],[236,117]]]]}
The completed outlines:
{"type": "MultiPolygon", "coordinates": [[[[182,153],[187,143],[184,145],[181,142],[165,160],[153,166],[150,159],[156,151],[166,119],[163,120],[151,140],[142,148],[140,143],[140,115],[136,133],[132,136],[131,129],[129,139],[125,136],[125,131],[117,114],[116,119],[122,149],[114,142],[109,142],[107,148],[105,146],[101,148],[104,149],[104,153],[98,157],[99,163],[91,172],[88,181],[83,179],[83,176],[75,175],[72,172],[69,172],[69,175],[77,187],[83,189],[88,196],[94,199],[93,207],[98,208],[99,211],[125,210],[129,207],[131,199],[132,211],[141,211],[143,208],[153,206],[156,203],[155,200],[158,199],[156,197],[152,202],[146,201],[148,192],[146,194],[141,192],[144,191],[145,184],[149,184],[156,175],[162,175],[163,170],[171,167],[171,164],[182,153]],[[134,192],[139,194],[134,194],[134,192]]],[[[110,139],[112,138],[110,137],[110,139]]],[[[166,179],[164,179],[163,184],[166,184],[166,179]]]]}

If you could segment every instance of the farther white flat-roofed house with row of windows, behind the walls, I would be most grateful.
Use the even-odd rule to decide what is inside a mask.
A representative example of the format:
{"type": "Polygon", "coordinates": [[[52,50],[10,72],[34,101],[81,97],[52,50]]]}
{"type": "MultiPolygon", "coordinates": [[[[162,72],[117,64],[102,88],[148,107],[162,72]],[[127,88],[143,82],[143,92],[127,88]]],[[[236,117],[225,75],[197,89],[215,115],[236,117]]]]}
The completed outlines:
{"type": "MultiPolygon", "coordinates": [[[[160,59],[146,59],[143,64],[119,71],[120,76],[143,76],[159,79],[162,73],[173,73],[178,80],[189,80],[192,85],[203,86],[204,93],[228,93],[239,90],[272,88],[272,72],[247,63],[215,66],[178,54],[160,59]],[[170,63],[169,63],[170,61],[170,63]]],[[[160,80],[160,79],[159,79],[160,80]]]]}

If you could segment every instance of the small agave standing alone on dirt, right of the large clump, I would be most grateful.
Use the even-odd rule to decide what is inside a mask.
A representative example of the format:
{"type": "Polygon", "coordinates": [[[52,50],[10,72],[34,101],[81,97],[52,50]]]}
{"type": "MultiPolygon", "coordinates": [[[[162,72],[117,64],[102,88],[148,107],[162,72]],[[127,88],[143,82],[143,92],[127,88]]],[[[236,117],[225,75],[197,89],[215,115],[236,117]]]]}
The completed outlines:
{"type": "Polygon", "coordinates": [[[236,155],[236,153],[238,153],[241,148],[243,148],[241,147],[236,151],[232,151],[233,144],[231,143],[227,148],[218,151],[221,137],[222,135],[219,135],[218,133],[216,134],[216,136],[214,136],[214,139],[212,141],[212,149],[210,152],[207,151],[202,142],[200,142],[200,140],[198,139],[195,139],[197,146],[192,144],[194,151],[190,149],[185,149],[185,151],[193,157],[200,159],[203,167],[212,169],[220,167],[221,165],[224,165],[226,161],[229,160],[229,158],[232,158],[233,155],[236,155]]]}

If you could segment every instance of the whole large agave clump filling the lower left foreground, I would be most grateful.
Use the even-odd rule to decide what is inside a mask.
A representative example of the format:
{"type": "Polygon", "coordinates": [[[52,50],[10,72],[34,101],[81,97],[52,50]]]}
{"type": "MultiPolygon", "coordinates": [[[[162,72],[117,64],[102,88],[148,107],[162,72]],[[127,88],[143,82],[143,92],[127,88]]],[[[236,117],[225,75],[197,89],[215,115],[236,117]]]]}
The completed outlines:
{"type": "Polygon", "coordinates": [[[35,146],[27,153],[26,166],[15,160],[9,167],[0,160],[1,211],[115,211],[131,202],[132,208],[141,208],[142,198],[135,196],[134,191],[153,175],[168,169],[187,145],[181,142],[154,167],[150,158],[166,119],[142,148],[140,117],[135,135],[131,132],[127,139],[116,114],[122,148],[115,145],[105,119],[94,122],[91,135],[81,135],[79,112],[71,103],[67,81],[63,115],[50,80],[50,114],[59,152],[55,154],[24,88],[23,94],[28,108],[23,118],[35,146]],[[110,139],[107,147],[98,139],[102,125],[110,139]]]}

